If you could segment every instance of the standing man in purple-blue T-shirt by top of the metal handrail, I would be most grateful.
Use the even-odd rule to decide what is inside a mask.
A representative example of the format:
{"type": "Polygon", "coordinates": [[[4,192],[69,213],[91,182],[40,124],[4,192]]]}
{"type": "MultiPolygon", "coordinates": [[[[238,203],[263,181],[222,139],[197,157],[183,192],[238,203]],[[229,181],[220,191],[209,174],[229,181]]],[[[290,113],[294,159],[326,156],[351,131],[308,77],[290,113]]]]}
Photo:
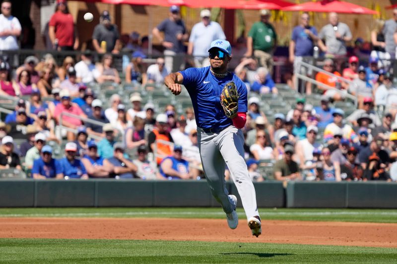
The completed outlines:
{"type": "MultiPolygon", "coordinates": [[[[289,43],[289,61],[294,64],[294,74],[298,69],[299,62],[302,61],[304,56],[313,56],[313,48],[318,41],[317,29],[309,25],[309,13],[304,12],[300,17],[300,24],[292,30],[292,37],[289,43]]],[[[292,80],[295,81],[294,76],[292,80]]],[[[294,87],[297,84],[294,83],[294,87]]],[[[311,93],[311,84],[306,83],[306,92],[311,93]]]]}

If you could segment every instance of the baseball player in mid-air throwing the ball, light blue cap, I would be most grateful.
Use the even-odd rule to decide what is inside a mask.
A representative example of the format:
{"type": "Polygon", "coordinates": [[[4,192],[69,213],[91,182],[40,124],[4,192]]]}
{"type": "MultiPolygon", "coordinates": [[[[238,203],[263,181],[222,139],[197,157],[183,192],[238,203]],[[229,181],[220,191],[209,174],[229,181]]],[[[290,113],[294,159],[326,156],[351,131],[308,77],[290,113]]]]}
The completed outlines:
{"type": "Polygon", "coordinates": [[[231,60],[228,41],[215,40],[208,50],[210,66],[189,68],[169,74],[164,83],[174,94],[181,84],[189,92],[198,126],[202,167],[212,195],[222,205],[231,229],[238,225],[237,198],[225,188],[225,162],[240,194],[252,234],[262,232],[254,185],[244,161],[244,127],[247,117],[247,89],[227,71],[231,60]]]}

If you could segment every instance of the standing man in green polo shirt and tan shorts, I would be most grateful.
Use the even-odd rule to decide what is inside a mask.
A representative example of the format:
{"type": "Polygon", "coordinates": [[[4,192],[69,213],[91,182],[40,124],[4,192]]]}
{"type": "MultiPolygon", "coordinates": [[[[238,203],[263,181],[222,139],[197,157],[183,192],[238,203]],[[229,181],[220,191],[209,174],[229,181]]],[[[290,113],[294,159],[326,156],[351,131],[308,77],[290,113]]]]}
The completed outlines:
{"type": "Polygon", "coordinates": [[[277,45],[277,35],[273,26],[269,23],[270,11],[260,11],[261,21],[252,25],[247,39],[246,57],[253,54],[259,59],[259,64],[267,67],[269,72],[273,71],[273,52],[277,45]],[[253,52],[254,51],[254,52],[253,52]]]}

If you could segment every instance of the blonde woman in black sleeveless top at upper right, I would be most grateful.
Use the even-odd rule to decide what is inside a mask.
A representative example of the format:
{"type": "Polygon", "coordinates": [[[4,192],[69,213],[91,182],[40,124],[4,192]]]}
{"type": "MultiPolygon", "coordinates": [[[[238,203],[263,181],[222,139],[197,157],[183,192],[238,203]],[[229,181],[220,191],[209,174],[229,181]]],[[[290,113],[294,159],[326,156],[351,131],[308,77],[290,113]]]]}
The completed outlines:
{"type": "Polygon", "coordinates": [[[374,28],[371,31],[371,44],[372,52],[371,57],[379,58],[379,62],[382,65],[380,67],[385,67],[390,65],[390,54],[386,52],[386,42],[385,35],[383,34],[383,28],[385,27],[385,20],[377,19],[375,20],[374,28]]]}

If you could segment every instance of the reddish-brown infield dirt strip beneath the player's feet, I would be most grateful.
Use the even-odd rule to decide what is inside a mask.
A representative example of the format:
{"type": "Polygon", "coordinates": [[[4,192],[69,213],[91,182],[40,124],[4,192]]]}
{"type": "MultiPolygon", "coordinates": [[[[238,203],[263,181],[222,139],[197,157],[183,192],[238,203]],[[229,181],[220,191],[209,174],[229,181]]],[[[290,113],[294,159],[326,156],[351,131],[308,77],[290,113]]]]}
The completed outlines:
{"type": "Polygon", "coordinates": [[[2,238],[145,239],[262,242],[397,248],[397,224],[265,220],[253,237],[221,219],[0,218],[2,238]]]}

